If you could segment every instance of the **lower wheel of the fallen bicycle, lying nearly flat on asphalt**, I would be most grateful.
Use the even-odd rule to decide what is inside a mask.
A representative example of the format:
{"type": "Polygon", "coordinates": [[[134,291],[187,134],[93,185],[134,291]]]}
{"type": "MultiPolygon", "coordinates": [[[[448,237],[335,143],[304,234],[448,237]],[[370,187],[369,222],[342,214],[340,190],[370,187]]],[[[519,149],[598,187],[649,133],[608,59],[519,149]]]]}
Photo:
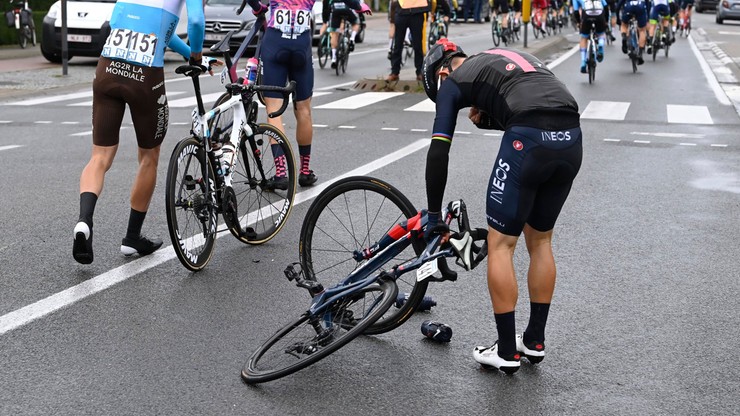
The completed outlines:
{"type": "MultiPolygon", "coordinates": [[[[242,368],[242,379],[248,384],[276,380],[329,356],[357,338],[369,325],[379,319],[385,310],[391,307],[397,293],[395,283],[389,280],[381,280],[379,284],[347,292],[329,305],[329,308],[333,309],[333,316],[352,316],[352,323],[332,322],[331,329],[324,329],[330,332],[322,334],[317,334],[317,330],[310,322],[311,316],[308,312],[304,313],[276,332],[252,353],[242,368]],[[371,299],[369,310],[358,309],[362,316],[357,320],[355,311],[350,307],[366,306],[368,302],[365,298],[371,292],[379,292],[377,296],[380,296],[380,299],[371,299]],[[346,311],[352,314],[349,315],[346,311]]],[[[322,328],[326,325],[323,314],[314,319],[321,320],[322,328]]]]}

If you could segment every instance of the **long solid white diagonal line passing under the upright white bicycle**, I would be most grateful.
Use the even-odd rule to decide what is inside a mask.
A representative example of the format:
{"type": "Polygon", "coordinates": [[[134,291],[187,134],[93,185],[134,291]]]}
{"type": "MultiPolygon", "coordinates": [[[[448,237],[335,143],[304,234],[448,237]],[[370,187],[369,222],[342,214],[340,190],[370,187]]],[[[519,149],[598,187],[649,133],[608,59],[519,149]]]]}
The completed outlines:
{"type": "MultiPolygon", "coordinates": [[[[318,196],[319,193],[321,193],[321,191],[340,179],[355,175],[367,175],[397,160],[409,156],[421,149],[424,149],[428,145],[429,139],[419,139],[409,144],[408,146],[405,146],[393,153],[376,159],[366,165],[360,166],[357,169],[351,170],[343,175],[330,179],[318,186],[312,187],[309,190],[299,192],[295,196],[294,205],[298,205],[312,198],[315,198],[316,196],[318,196]]],[[[251,213],[247,215],[254,216],[254,214],[255,213],[251,213]]],[[[227,233],[220,233],[217,235],[216,238],[221,238],[225,235],[227,235],[227,233]]],[[[113,270],[109,270],[103,274],[97,275],[90,280],[86,280],[80,284],[67,288],[61,292],[55,293],[30,305],[6,313],[5,315],[0,316],[0,335],[27,325],[37,319],[43,318],[44,316],[47,316],[62,308],[77,303],[98,292],[102,292],[103,290],[108,289],[111,286],[128,280],[129,278],[136,276],[146,270],[149,270],[152,267],[156,267],[173,259],[175,259],[175,250],[172,248],[171,245],[169,245],[155,251],[154,253],[146,257],[142,257],[140,259],[126,263],[122,266],[116,267],[113,270]]]]}

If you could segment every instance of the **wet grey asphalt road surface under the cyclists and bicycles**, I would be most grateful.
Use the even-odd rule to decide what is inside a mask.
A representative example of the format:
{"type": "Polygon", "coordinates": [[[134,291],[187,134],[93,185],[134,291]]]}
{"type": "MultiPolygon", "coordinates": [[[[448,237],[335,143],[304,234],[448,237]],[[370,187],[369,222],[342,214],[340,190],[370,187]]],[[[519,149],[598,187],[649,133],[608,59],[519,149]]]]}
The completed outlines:
{"type": "MultiPolygon", "coordinates": [[[[608,47],[594,85],[578,72],[577,54],[553,62],[581,109],[584,164],[556,231],[547,358],[511,377],[472,360],[475,345],[496,337],[478,268],[431,285],[438,305],[401,328],[357,339],[284,379],[246,386],[239,371],[247,356],[308,306],[282,270],[298,258],[315,190],[299,190],[306,202],[268,244],[220,238],[200,273],[187,272],[171,247],[124,259],[118,249],[136,168],[124,124],[96,210],[95,262],[81,266],[69,251],[90,151],[89,84],[0,99],[7,179],[0,185],[0,414],[737,414],[740,366],[731,345],[740,336],[740,118],[722,95],[732,83],[712,87],[707,79],[731,67],[713,60],[709,43],[731,59],[740,53],[714,37],[714,26],[713,16],[696,16],[703,34],[679,39],[670,57],[637,74],[617,46],[608,47]],[[30,99],[42,101],[23,105],[30,99]],[[452,342],[424,339],[426,319],[449,324],[452,342]]],[[[738,31],[731,27],[722,31],[738,31]]],[[[452,33],[466,51],[490,43],[487,25],[452,33]]],[[[329,94],[314,99],[312,164],[323,184],[367,166],[363,172],[422,208],[425,147],[417,143],[428,139],[433,113],[409,111],[422,95],[320,108],[356,98],[360,92],[349,89],[356,79],[387,73],[382,25],[369,35],[348,74],[317,71],[317,92],[329,94]],[[379,162],[393,152],[400,157],[379,162]]],[[[219,88],[214,80],[207,92],[219,88]]],[[[192,94],[186,81],[168,82],[167,90],[171,105],[192,94]]],[[[191,107],[171,110],[145,223],[165,245],[166,160],[187,133],[191,107]]],[[[292,137],[292,117],[285,121],[292,137]]],[[[496,133],[476,130],[461,114],[451,153],[445,197],[463,198],[479,226],[496,133]]],[[[515,265],[522,330],[529,309],[523,247],[515,265]]]]}

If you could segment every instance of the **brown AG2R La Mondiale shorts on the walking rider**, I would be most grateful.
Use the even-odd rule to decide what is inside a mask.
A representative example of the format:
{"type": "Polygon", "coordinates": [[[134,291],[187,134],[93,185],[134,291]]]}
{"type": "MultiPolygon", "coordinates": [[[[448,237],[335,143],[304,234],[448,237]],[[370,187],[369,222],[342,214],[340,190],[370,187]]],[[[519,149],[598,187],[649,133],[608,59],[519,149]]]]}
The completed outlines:
{"type": "Polygon", "coordinates": [[[162,144],[169,122],[164,69],[101,57],[93,81],[93,144],[118,144],[126,104],[139,147],[162,144]]]}

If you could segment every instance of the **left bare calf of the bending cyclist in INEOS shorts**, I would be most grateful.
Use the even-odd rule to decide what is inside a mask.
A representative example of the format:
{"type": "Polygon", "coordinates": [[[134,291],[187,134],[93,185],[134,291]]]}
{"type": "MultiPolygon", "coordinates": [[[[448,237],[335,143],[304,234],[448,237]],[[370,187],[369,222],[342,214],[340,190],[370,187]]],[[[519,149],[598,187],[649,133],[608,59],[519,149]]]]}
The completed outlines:
{"type": "Polygon", "coordinates": [[[496,314],[516,308],[519,289],[514,273],[514,249],[518,239],[488,227],[488,293],[496,314]]]}

